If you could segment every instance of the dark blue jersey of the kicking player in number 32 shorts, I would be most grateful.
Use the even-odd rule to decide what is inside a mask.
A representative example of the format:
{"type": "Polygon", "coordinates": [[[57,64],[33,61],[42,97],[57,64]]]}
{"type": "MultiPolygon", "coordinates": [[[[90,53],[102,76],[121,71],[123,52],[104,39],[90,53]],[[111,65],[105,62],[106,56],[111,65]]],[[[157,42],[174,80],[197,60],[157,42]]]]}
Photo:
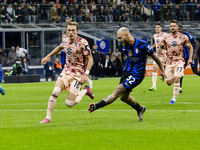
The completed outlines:
{"type": "MultiPolygon", "coordinates": [[[[120,44],[121,45],[121,44],[120,44]]],[[[129,72],[135,76],[144,76],[146,68],[146,55],[152,55],[153,49],[143,40],[135,38],[132,46],[120,46],[122,54],[126,55],[126,61],[123,71],[129,72]]]]}

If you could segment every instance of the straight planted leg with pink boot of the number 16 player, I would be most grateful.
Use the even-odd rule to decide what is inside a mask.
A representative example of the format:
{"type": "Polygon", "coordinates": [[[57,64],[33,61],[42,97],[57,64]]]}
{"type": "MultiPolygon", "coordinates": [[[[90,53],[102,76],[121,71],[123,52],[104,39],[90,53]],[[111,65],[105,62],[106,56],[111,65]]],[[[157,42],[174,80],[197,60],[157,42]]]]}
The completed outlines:
{"type": "MultiPolygon", "coordinates": [[[[69,83],[68,83],[69,85],[69,83]]],[[[58,98],[58,95],[60,94],[60,92],[65,88],[65,85],[63,83],[63,80],[61,80],[60,78],[57,79],[55,87],[53,89],[53,92],[49,98],[49,102],[48,102],[48,108],[47,108],[47,116],[46,119],[44,119],[43,121],[41,121],[40,123],[48,123],[51,120],[51,115],[52,112],[54,110],[54,107],[56,105],[56,101],[58,98]]]]}

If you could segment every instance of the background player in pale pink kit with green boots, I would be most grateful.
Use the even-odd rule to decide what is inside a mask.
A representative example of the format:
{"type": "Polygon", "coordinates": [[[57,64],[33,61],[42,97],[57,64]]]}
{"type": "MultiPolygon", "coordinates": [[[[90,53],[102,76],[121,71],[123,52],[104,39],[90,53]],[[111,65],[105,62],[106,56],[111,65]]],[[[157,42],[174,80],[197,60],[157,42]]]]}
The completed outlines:
{"type": "MultiPolygon", "coordinates": [[[[157,52],[157,50],[159,48],[159,42],[162,40],[163,37],[165,37],[167,35],[167,33],[162,32],[162,26],[161,26],[160,22],[156,23],[155,31],[156,31],[156,34],[153,35],[155,43],[152,46],[152,48],[155,47],[156,48],[156,52],[157,52]]],[[[156,53],[156,55],[157,55],[157,53],[156,53]]],[[[162,62],[162,64],[165,65],[165,62],[166,62],[166,59],[167,59],[166,50],[165,49],[162,50],[162,53],[161,53],[159,59],[162,62]]],[[[153,86],[149,88],[149,91],[156,91],[156,81],[157,81],[158,69],[159,69],[159,67],[154,61],[153,62],[153,73],[152,73],[153,86]]]]}

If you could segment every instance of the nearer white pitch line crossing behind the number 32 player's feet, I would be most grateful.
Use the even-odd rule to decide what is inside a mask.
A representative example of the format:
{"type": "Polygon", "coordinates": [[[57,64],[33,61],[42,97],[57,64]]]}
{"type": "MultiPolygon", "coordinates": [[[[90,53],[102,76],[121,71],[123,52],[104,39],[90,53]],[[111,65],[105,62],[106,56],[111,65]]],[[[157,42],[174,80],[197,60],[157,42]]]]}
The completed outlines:
{"type": "MultiPolygon", "coordinates": [[[[0,111],[47,111],[46,109],[0,109],[0,111]]],[[[64,111],[64,112],[78,112],[78,111],[88,111],[87,109],[82,109],[82,110],[70,110],[70,109],[61,109],[61,110],[54,110],[54,111],[64,111]]],[[[125,110],[96,110],[96,111],[117,111],[117,112],[126,112],[126,111],[134,111],[133,109],[125,109],[125,110]]],[[[151,111],[151,112],[200,112],[200,110],[146,110],[146,111],[151,111]]]]}

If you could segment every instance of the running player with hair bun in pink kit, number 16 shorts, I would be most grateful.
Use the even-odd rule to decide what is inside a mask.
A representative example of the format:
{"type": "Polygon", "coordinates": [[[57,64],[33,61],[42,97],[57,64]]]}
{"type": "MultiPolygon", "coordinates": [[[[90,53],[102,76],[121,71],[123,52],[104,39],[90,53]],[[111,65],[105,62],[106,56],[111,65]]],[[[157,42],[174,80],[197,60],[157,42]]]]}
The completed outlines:
{"type": "Polygon", "coordinates": [[[51,53],[41,60],[41,64],[45,64],[50,57],[59,53],[62,49],[66,52],[66,65],[58,77],[54,90],[50,96],[47,108],[47,116],[40,123],[49,123],[56,100],[61,91],[69,87],[65,104],[72,107],[79,103],[84,95],[93,97],[92,91],[88,87],[84,87],[80,91],[82,84],[88,82],[88,75],[93,65],[93,58],[90,52],[88,42],[77,35],[78,23],[68,22],[66,29],[68,37],[66,41],[57,46],[51,53]],[[86,63],[87,61],[87,63],[86,63]]]}

